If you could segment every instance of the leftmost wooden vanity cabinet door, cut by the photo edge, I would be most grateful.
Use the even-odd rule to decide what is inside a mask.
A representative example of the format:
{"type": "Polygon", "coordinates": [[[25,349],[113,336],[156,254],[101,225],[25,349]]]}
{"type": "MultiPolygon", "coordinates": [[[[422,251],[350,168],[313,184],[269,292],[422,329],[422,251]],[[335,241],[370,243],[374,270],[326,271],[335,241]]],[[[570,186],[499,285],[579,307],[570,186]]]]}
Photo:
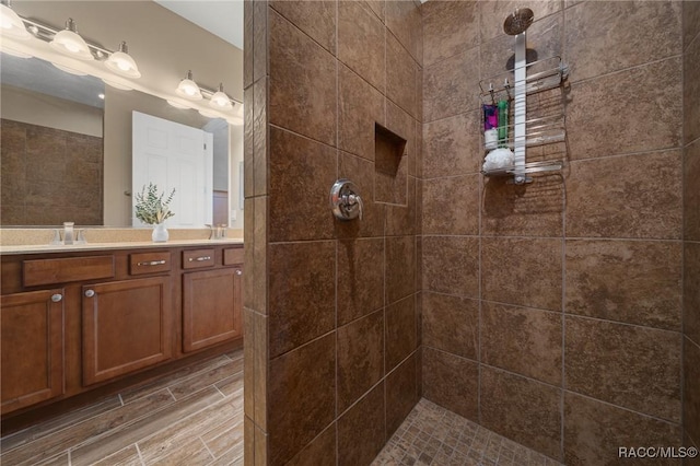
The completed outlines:
{"type": "Polygon", "coordinates": [[[63,393],[63,290],[2,296],[2,413],[63,393]]]}

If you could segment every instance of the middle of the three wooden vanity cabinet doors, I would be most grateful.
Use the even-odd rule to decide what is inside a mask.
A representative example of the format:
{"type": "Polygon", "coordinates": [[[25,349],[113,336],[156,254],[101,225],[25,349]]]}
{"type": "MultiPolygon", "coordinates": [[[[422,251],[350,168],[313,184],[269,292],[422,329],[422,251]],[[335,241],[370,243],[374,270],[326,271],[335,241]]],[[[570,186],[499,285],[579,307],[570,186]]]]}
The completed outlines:
{"type": "Polygon", "coordinates": [[[84,385],[171,358],[168,277],[85,286],[82,291],[84,385]]]}

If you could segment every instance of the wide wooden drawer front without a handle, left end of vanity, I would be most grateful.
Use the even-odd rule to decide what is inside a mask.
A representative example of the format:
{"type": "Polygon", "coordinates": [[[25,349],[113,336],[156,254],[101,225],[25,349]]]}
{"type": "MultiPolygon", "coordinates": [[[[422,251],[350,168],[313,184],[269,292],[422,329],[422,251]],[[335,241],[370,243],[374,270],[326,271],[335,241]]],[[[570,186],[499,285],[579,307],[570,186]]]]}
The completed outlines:
{"type": "Polygon", "coordinates": [[[25,287],[112,277],[114,256],[34,259],[22,264],[22,281],[25,287]]]}

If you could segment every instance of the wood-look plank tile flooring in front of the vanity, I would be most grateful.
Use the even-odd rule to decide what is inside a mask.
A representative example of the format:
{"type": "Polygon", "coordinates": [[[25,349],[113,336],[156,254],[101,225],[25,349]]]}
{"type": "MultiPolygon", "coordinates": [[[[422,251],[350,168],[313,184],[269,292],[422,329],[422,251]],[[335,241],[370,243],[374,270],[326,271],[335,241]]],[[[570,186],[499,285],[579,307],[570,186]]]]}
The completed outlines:
{"type": "Polygon", "coordinates": [[[0,464],[242,465],[243,350],[13,433],[0,464]]]}

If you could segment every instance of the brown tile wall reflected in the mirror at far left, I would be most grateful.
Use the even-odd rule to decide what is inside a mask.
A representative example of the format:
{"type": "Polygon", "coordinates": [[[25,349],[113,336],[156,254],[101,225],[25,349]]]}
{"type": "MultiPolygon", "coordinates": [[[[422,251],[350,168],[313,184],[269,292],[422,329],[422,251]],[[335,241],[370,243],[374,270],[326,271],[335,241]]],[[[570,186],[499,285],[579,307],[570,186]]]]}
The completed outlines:
{"type": "Polygon", "coordinates": [[[3,119],[0,224],[103,223],[102,138],[3,119]]]}

